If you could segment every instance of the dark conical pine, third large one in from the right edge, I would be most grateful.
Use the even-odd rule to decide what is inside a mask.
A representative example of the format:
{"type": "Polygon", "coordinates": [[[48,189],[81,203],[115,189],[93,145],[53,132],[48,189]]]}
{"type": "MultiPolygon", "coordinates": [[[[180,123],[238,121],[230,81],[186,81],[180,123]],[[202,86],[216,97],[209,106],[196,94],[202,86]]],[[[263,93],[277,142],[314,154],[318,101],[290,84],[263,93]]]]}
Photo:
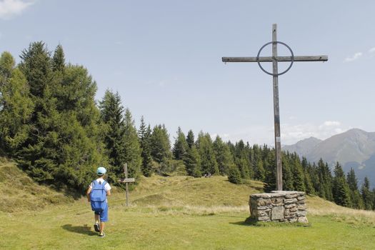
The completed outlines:
{"type": "Polygon", "coordinates": [[[334,184],[333,184],[334,201],[340,206],[351,207],[351,195],[349,185],[346,182],[344,171],[339,162],[334,168],[334,184]]]}

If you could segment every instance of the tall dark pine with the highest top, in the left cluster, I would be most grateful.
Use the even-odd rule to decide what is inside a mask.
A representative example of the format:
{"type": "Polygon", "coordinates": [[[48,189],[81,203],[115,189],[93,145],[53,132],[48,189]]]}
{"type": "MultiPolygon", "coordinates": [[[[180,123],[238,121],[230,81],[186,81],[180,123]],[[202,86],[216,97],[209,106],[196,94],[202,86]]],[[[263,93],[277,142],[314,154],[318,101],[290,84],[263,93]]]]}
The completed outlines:
{"type": "Polygon", "coordinates": [[[34,101],[30,117],[30,133],[19,152],[20,165],[36,181],[54,182],[54,172],[59,169],[59,134],[61,116],[56,110],[54,74],[50,52],[42,42],[30,44],[21,54],[21,69],[30,86],[29,96],[34,101]]]}

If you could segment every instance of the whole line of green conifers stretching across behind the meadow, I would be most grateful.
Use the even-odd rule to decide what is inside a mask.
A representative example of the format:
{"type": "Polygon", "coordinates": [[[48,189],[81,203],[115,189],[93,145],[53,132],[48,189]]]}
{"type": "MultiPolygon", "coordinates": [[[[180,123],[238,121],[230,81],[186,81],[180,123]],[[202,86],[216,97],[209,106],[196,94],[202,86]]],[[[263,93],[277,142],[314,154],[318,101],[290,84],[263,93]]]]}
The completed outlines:
{"type": "MultiPolygon", "coordinates": [[[[136,128],[119,93],[107,90],[96,103],[96,82],[84,66],[66,63],[61,45],[49,51],[34,42],[21,52],[16,64],[9,52],[0,57],[0,154],[16,159],[36,181],[55,189],[84,191],[97,166],[109,169],[109,180],[123,176],[228,176],[276,189],[274,149],[240,140],[179,128],[171,145],[164,124],[151,126],[141,118],[136,128]]],[[[344,174],[339,163],[332,175],[328,164],[309,163],[296,153],[283,152],[283,186],[306,191],[341,206],[375,208],[375,190],[369,179],[359,188],[354,170],[344,174]]],[[[120,185],[120,184],[119,184],[120,185]]]]}

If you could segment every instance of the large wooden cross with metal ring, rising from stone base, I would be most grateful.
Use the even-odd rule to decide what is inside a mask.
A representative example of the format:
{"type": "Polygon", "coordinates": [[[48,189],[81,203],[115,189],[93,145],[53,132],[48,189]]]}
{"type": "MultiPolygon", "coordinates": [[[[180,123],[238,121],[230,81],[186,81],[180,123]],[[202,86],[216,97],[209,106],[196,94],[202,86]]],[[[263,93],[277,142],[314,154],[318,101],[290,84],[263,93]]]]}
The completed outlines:
{"type": "Polygon", "coordinates": [[[274,83],[274,126],[275,126],[275,149],[276,149],[276,164],[277,164],[277,190],[283,190],[283,177],[282,177],[282,166],[281,166],[281,139],[280,139],[280,114],[279,114],[279,79],[278,76],[286,73],[291,68],[294,61],[328,61],[328,56],[294,56],[291,48],[281,41],[277,41],[276,37],[276,24],[272,25],[272,41],[264,44],[259,49],[258,56],[255,57],[223,57],[221,60],[226,62],[257,62],[262,71],[273,77],[274,83]],[[259,56],[261,50],[265,46],[272,44],[272,56],[259,56]],[[277,56],[277,44],[283,44],[291,52],[291,56],[277,56]],[[261,66],[261,62],[272,62],[272,73],[264,70],[261,66]],[[278,61],[290,61],[289,68],[279,73],[277,69],[278,61]]]}

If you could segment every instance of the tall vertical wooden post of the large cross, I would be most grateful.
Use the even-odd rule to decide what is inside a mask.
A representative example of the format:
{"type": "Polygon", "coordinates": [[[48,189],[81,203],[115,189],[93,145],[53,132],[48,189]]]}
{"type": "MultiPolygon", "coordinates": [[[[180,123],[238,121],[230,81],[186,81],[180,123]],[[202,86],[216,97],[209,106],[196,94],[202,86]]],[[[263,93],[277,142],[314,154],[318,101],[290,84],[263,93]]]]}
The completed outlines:
{"type": "Polygon", "coordinates": [[[280,136],[280,112],[279,112],[279,76],[277,69],[277,25],[272,25],[272,69],[274,82],[274,124],[275,124],[275,151],[277,190],[283,190],[283,176],[281,166],[281,136],[280,136]]]}

